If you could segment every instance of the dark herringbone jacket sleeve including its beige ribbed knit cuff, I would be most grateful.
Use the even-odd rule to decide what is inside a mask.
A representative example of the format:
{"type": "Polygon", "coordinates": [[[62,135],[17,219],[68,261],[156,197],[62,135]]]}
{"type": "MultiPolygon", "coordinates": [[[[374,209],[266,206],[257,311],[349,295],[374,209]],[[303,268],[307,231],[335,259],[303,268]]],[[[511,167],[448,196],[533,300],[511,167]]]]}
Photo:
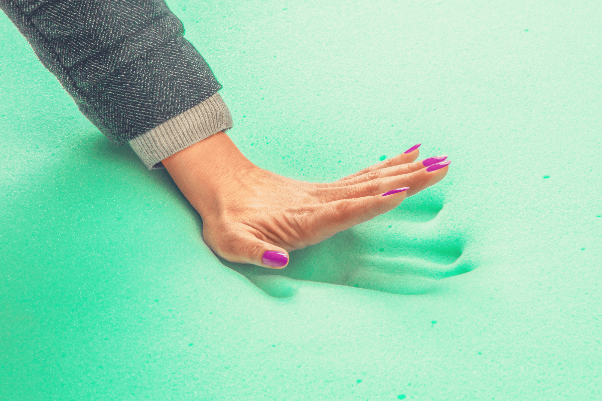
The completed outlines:
{"type": "Polygon", "coordinates": [[[42,64],[148,169],[232,127],[205,59],[164,0],[0,0],[42,64]]]}

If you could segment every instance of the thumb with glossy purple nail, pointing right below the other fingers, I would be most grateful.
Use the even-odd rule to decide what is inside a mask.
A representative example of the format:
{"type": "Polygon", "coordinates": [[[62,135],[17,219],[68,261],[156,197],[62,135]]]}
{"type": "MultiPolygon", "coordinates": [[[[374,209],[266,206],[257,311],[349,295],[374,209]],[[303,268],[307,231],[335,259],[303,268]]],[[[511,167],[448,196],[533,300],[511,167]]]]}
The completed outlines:
{"type": "Polygon", "coordinates": [[[288,264],[288,252],[255,237],[249,232],[239,232],[233,241],[229,241],[228,249],[220,249],[220,253],[235,263],[250,263],[270,269],[284,269],[288,264]]]}

